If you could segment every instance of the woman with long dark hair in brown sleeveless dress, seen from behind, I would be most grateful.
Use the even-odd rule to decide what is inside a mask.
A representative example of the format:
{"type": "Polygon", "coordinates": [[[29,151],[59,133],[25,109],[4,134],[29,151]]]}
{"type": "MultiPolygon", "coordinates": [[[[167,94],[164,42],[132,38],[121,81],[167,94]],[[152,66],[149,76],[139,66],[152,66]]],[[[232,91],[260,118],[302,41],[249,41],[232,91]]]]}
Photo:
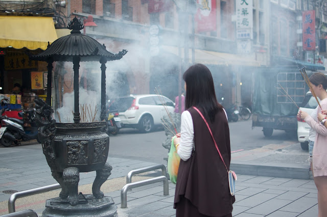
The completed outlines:
{"type": "Polygon", "coordinates": [[[181,132],[174,139],[181,159],[174,199],[176,216],[231,216],[235,197],[229,192],[226,168],[206,123],[194,107],[208,122],[229,168],[227,115],[217,102],[213,77],[206,66],[191,66],[183,79],[186,111],[181,114],[181,132]]]}

